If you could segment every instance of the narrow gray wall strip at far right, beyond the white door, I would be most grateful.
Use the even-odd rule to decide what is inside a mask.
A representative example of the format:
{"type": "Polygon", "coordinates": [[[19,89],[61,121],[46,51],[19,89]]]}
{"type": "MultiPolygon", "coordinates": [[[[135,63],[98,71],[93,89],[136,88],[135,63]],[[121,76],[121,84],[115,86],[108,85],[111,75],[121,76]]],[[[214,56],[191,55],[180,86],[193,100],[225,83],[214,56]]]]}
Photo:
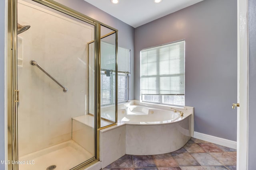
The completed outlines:
{"type": "Polygon", "coordinates": [[[249,122],[248,122],[248,169],[255,169],[256,160],[256,2],[248,0],[249,13],[249,122]]]}

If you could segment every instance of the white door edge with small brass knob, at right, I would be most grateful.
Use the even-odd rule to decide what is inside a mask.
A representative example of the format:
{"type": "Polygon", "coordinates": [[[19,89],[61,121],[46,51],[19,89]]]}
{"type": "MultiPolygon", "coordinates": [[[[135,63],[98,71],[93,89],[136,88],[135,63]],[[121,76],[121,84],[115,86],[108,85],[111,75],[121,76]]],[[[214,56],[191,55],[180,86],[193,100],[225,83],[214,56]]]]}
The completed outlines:
{"type": "Polygon", "coordinates": [[[247,0],[238,0],[237,170],[248,169],[248,31],[247,0]]]}

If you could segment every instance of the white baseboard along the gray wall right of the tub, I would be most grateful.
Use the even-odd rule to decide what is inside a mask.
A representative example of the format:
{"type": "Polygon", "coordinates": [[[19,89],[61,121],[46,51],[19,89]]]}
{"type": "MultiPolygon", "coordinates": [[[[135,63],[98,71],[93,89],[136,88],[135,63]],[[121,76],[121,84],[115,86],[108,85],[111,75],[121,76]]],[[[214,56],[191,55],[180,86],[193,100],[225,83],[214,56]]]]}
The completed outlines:
{"type": "Polygon", "coordinates": [[[228,139],[223,139],[220,137],[206,135],[206,134],[199,133],[199,132],[194,132],[194,138],[236,149],[236,141],[230,141],[228,139]]]}

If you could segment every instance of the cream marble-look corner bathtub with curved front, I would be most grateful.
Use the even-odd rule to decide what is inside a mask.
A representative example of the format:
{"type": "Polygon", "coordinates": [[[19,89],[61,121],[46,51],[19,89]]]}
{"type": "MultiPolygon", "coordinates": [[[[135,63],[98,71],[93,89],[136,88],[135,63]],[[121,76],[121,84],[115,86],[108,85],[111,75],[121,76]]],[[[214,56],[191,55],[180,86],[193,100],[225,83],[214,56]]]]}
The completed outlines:
{"type": "Polygon", "coordinates": [[[182,148],[191,137],[191,113],[178,110],[184,112],[183,117],[170,107],[131,105],[119,109],[118,123],[126,124],[126,154],[164,154],[182,148]]]}

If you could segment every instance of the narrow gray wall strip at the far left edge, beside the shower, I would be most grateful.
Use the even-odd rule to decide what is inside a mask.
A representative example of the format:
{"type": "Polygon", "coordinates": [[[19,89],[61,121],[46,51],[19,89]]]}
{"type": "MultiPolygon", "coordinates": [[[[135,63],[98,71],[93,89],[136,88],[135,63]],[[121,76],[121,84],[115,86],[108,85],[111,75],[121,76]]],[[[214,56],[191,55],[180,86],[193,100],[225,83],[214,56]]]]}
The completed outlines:
{"type": "MultiPolygon", "coordinates": [[[[4,30],[5,1],[0,1],[0,160],[4,160],[4,30]]],[[[0,164],[4,169],[4,164],[0,164]]]]}

